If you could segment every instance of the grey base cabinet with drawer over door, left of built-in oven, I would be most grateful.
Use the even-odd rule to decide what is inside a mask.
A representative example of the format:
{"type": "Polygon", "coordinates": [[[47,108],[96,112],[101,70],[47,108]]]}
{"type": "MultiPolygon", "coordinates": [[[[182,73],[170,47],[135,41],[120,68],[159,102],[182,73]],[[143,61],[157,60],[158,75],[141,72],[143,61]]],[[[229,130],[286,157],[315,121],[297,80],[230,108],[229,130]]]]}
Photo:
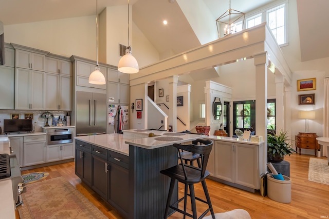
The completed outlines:
{"type": "Polygon", "coordinates": [[[46,163],[46,135],[23,137],[23,166],[46,163]]]}

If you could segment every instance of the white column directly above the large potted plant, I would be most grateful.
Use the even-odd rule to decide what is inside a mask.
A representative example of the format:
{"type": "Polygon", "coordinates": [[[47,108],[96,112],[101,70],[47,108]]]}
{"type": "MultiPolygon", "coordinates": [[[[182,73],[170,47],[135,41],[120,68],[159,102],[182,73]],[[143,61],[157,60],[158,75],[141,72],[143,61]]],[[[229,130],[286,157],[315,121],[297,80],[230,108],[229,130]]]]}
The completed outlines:
{"type": "Polygon", "coordinates": [[[284,129],[284,76],[276,72],[276,130],[284,129]]]}

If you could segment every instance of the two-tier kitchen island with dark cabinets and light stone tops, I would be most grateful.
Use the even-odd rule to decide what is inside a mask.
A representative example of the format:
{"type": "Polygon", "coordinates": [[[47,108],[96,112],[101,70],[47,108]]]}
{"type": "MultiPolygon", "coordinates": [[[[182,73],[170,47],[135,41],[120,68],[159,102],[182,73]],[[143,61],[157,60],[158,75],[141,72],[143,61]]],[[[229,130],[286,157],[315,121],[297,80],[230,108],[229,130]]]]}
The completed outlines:
{"type": "MultiPolygon", "coordinates": [[[[206,136],[155,130],[123,132],[75,137],[76,174],[124,217],[162,218],[170,179],[160,170],[178,163],[172,145],[206,136]],[[141,133],[145,137],[139,136],[141,133]],[[148,137],[150,133],[154,137],[148,137]]],[[[178,185],[173,200],[178,200],[178,185]]]]}

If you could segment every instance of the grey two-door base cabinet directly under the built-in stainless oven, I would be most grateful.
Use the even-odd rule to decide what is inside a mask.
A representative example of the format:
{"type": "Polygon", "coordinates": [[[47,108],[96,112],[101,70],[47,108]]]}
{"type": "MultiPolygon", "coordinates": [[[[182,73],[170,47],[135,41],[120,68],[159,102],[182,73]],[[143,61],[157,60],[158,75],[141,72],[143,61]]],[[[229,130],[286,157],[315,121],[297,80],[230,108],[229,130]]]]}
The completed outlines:
{"type": "Polygon", "coordinates": [[[74,158],[74,143],[47,145],[46,162],[56,162],[74,158]]]}

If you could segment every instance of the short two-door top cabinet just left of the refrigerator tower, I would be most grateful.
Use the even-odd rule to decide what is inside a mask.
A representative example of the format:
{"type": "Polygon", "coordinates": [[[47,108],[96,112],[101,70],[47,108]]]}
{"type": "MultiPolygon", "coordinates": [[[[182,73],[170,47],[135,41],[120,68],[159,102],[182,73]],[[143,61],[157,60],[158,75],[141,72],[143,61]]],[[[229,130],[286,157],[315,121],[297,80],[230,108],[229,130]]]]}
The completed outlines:
{"type": "Polygon", "coordinates": [[[58,58],[46,57],[46,72],[71,75],[71,62],[58,58]]]}

